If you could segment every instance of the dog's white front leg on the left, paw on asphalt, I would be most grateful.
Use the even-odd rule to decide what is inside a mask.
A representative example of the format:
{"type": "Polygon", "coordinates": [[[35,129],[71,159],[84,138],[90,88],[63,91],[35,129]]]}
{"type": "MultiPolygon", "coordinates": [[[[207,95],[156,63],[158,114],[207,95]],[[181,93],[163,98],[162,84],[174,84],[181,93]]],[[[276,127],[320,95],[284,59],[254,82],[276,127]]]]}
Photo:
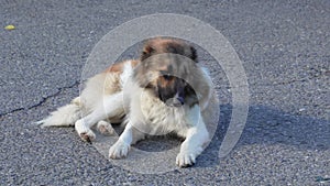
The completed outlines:
{"type": "Polygon", "coordinates": [[[131,144],[136,143],[139,140],[145,136],[144,133],[136,130],[131,122],[129,122],[119,136],[118,141],[110,147],[110,158],[122,158],[128,155],[131,144]]]}

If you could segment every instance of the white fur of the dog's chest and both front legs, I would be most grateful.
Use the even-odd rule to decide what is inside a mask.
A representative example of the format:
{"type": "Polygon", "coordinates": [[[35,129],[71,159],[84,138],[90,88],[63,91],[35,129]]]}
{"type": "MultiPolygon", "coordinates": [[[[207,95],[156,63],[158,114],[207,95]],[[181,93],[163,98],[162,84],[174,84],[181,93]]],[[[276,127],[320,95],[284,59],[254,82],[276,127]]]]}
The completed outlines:
{"type": "Polygon", "coordinates": [[[202,152],[202,145],[209,140],[199,106],[168,107],[148,90],[133,83],[123,91],[134,92],[130,94],[129,123],[111,146],[109,156],[127,156],[130,145],[143,139],[145,134],[175,132],[186,139],[176,157],[176,164],[180,167],[194,164],[202,152]]]}

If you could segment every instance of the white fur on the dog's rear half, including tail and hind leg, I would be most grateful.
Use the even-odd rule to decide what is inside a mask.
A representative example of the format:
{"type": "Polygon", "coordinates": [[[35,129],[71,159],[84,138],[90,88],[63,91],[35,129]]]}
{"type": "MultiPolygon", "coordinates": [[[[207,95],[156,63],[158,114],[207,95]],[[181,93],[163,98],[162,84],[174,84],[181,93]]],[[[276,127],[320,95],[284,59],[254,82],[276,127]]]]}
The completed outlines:
{"type": "MultiPolygon", "coordinates": [[[[124,63],[124,73],[119,77],[121,87],[133,70],[131,61],[124,63]]],[[[111,83],[116,81],[114,78],[117,77],[109,73],[101,73],[91,77],[87,80],[80,97],[73,99],[72,103],[58,108],[48,118],[36,123],[41,127],[75,125],[77,133],[84,141],[94,140],[95,134],[90,130],[92,125],[106,119],[110,119],[110,122],[119,122],[124,116],[122,91],[107,94],[105,89],[105,86],[109,86],[107,84],[112,86],[111,83]]],[[[98,127],[98,129],[100,128],[101,125],[98,127]]],[[[109,127],[107,129],[110,130],[109,127]]]]}

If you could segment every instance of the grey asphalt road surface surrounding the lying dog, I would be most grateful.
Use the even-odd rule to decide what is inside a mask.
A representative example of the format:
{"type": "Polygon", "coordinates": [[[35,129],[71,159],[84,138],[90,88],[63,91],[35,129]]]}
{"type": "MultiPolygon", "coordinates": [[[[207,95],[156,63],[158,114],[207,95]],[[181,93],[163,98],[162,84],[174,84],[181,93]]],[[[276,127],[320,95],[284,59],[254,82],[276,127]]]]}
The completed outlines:
{"type": "MultiPolygon", "coordinates": [[[[0,1],[0,185],[330,185],[330,1],[0,1]],[[226,73],[199,48],[220,99],[216,134],[194,167],[140,174],[106,160],[73,128],[31,125],[79,94],[97,42],[151,13],[195,17],[220,31],[249,80],[235,149],[218,158],[231,119],[226,73]],[[15,30],[4,30],[13,24],[15,30]]],[[[134,50],[123,58],[136,56],[134,50]]],[[[160,151],[170,136],[138,144],[160,151]]],[[[174,163],[174,160],[173,160],[174,163]]]]}

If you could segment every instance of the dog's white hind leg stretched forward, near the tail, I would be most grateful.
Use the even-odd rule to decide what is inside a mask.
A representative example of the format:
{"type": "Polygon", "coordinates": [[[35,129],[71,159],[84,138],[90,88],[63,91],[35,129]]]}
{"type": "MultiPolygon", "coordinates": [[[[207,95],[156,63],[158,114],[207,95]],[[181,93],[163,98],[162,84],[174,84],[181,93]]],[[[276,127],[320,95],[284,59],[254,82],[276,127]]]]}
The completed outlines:
{"type": "Polygon", "coordinates": [[[103,101],[101,101],[91,113],[76,121],[75,129],[81,140],[95,140],[96,135],[90,128],[99,121],[117,116],[123,116],[123,102],[122,91],[105,96],[103,101]]]}

